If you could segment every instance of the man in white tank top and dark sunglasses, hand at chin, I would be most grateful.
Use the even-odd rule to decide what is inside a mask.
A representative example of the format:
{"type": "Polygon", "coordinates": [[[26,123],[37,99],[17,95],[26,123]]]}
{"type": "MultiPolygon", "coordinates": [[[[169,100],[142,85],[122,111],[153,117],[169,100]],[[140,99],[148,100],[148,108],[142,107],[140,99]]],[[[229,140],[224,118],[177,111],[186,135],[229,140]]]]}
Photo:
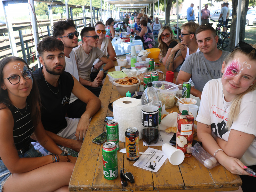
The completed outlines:
{"type": "Polygon", "coordinates": [[[173,71],[175,78],[180,71],[183,61],[192,53],[199,52],[196,42],[196,29],[199,25],[195,22],[188,22],[181,26],[181,43],[172,48],[165,63],[165,71],[173,71]],[[177,55],[175,53],[178,51],[177,55]]]}

